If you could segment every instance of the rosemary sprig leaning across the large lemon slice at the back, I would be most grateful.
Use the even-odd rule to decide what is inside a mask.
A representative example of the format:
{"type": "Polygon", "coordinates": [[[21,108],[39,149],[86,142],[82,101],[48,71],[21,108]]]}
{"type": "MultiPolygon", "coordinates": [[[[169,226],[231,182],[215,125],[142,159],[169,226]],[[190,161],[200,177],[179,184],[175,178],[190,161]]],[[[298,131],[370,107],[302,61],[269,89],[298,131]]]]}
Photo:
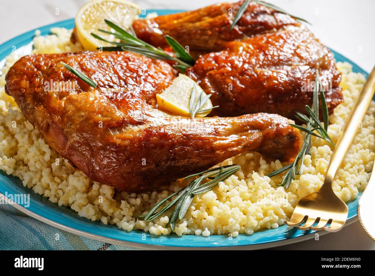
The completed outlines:
{"type": "Polygon", "coordinates": [[[187,68],[194,65],[195,60],[193,59],[193,57],[189,53],[187,53],[185,51],[185,48],[171,36],[166,35],[165,40],[174,51],[174,56],[171,56],[168,52],[164,51],[160,47],[156,48],[140,40],[136,37],[135,32],[132,28],[130,28],[130,33],[128,33],[126,32],[126,30],[117,26],[113,22],[109,20],[104,21],[109,27],[111,27],[111,29],[114,30],[114,32],[109,32],[101,29],[99,29],[98,31],[113,35],[115,38],[120,40],[120,42],[108,41],[96,35],[95,33],[91,33],[91,35],[94,38],[115,45],[115,47],[101,47],[101,49],[104,51],[128,51],[132,53],[141,54],[143,56],[147,56],[153,59],[171,60],[177,63],[173,66],[183,73],[186,71],[187,68]]]}

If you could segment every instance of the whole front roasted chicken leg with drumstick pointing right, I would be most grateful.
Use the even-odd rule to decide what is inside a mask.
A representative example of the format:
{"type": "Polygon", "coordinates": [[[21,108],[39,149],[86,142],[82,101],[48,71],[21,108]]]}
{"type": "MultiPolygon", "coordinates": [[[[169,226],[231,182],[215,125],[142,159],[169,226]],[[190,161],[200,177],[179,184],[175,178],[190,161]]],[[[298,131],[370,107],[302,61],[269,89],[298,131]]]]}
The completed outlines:
{"type": "Polygon", "coordinates": [[[167,63],[126,52],[34,54],[10,68],[6,92],[52,148],[117,190],[152,190],[248,150],[285,161],[299,151],[299,131],[280,115],[191,119],[160,111],[155,94],[174,77],[167,63]],[[46,89],[51,80],[74,86],[46,89]]]}

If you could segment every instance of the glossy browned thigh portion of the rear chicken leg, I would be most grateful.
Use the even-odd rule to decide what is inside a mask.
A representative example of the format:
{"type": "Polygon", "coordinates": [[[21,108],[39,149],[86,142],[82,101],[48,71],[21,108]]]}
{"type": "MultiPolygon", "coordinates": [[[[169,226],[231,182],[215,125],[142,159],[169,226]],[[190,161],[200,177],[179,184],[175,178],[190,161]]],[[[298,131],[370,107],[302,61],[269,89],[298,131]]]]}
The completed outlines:
{"type": "Polygon", "coordinates": [[[343,101],[333,54],[304,28],[289,27],[227,46],[203,55],[186,72],[220,106],[211,116],[269,112],[292,119],[295,111],[306,114],[316,70],[324,88],[330,89],[329,112],[343,101]]]}

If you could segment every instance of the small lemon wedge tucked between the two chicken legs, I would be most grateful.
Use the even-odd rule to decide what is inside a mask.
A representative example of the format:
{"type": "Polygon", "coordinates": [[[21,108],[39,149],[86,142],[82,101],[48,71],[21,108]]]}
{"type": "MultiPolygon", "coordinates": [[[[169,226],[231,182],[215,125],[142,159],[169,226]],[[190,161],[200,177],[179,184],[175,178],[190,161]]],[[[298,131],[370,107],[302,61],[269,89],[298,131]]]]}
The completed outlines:
{"type": "MultiPolygon", "coordinates": [[[[203,89],[196,84],[187,75],[180,74],[175,78],[170,86],[168,86],[161,94],[156,94],[157,104],[159,109],[170,112],[175,115],[181,115],[190,117],[189,102],[191,90],[195,84],[196,95],[198,98],[201,93],[203,97],[207,94],[204,93],[203,89]]],[[[211,100],[208,99],[201,110],[212,108],[211,100]]],[[[202,113],[196,113],[196,117],[204,117],[210,113],[211,110],[207,110],[202,113]]]]}

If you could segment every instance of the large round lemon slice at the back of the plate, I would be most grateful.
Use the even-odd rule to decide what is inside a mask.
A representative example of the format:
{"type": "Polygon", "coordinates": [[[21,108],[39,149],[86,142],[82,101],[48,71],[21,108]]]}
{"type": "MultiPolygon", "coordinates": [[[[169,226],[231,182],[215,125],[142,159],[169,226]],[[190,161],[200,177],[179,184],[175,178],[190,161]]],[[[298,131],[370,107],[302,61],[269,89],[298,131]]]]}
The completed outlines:
{"type": "Polygon", "coordinates": [[[83,48],[90,51],[96,51],[98,47],[113,46],[110,43],[93,38],[91,33],[95,33],[108,41],[118,41],[113,35],[98,32],[98,29],[113,32],[104,20],[108,19],[127,30],[140,12],[140,6],[123,0],[94,0],[89,2],[82,6],[75,17],[75,31],[78,41],[81,42],[83,48]]]}

